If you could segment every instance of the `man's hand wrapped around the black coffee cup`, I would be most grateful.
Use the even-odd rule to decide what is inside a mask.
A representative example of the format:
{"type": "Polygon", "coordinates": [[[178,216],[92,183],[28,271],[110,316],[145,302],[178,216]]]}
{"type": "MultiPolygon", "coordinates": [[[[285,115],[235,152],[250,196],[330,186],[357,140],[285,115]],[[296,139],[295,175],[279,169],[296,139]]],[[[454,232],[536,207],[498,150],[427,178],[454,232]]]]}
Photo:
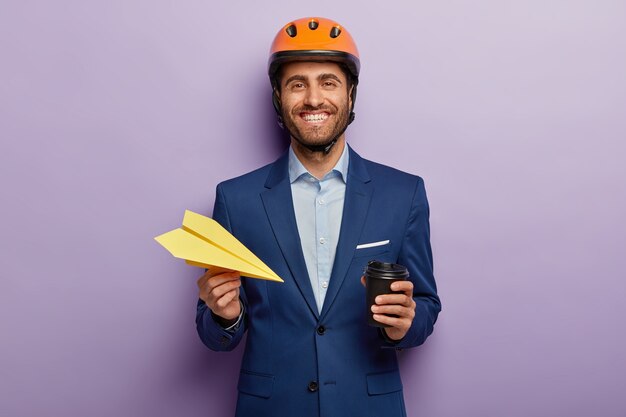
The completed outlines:
{"type": "MultiPolygon", "coordinates": [[[[365,277],[361,277],[365,285],[365,277]]],[[[391,340],[400,340],[411,328],[415,317],[415,301],[413,300],[413,283],[411,281],[396,281],[391,283],[391,291],[402,291],[402,294],[383,294],[376,297],[376,304],[372,306],[374,320],[387,324],[383,330],[391,340]],[[393,314],[398,317],[389,316],[393,314]]]]}

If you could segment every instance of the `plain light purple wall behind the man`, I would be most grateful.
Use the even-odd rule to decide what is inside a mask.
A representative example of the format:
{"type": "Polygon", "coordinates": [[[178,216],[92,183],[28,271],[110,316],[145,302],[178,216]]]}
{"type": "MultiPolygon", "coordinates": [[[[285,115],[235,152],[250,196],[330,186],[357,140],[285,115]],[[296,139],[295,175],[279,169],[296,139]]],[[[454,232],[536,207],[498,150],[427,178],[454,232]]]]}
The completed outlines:
{"type": "Polygon", "coordinates": [[[409,415],[626,415],[626,4],[292,3],[2,3],[0,415],[232,414],[241,351],[152,237],[280,153],[267,51],[315,14],[361,50],[349,142],[429,192],[409,415]]]}

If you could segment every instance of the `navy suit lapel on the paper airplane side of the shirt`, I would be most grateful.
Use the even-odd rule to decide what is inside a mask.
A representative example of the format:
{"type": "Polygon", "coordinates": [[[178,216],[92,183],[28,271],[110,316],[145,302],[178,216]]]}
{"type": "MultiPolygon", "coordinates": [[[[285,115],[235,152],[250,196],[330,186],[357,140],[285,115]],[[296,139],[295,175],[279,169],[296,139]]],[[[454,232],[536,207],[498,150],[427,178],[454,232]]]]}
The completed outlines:
{"type": "Polygon", "coordinates": [[[283,155],[274,163],[265,187],[268,189],[261,193],[261,199],[274,236],[302,296],[317,318],[319,317],[317,304],[302,254],[302,244],[293,209],[288,154],[283,155]]]}

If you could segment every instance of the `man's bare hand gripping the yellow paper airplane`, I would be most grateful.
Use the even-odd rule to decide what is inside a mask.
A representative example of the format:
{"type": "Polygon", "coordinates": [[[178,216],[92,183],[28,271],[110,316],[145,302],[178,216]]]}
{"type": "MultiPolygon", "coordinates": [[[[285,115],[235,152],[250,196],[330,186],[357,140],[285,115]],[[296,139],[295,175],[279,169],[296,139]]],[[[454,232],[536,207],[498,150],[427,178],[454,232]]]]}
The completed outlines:
{"type": "Polygon", "coordinates": [[[237,271],[215,272],[209,269],[198,279],[200,299],[225,322],[234,322],[241,314],[240,286],[241,276],[237,271]]]}

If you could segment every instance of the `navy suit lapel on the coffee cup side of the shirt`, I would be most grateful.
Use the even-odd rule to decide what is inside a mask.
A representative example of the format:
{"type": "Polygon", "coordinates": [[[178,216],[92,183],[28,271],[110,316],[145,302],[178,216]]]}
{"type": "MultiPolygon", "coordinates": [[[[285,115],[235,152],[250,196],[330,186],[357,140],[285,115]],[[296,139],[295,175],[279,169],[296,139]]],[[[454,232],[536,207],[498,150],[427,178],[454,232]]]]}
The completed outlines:
{"type": "Polygon", "coordinates": [[[348,167],[348,182],[346,184],[346,196],[344,200],[341,229],[335,263],[331,273],[328,292],[322,306],[321,318],[323,319],[331,308],[341,285],[343,284],[354,251],[358,245],[361,230],[367,217],[370,200],[372,197],[372,185],[369,174],[365,168],[363,159],[350,148],[350,164],[348,167]]]}

